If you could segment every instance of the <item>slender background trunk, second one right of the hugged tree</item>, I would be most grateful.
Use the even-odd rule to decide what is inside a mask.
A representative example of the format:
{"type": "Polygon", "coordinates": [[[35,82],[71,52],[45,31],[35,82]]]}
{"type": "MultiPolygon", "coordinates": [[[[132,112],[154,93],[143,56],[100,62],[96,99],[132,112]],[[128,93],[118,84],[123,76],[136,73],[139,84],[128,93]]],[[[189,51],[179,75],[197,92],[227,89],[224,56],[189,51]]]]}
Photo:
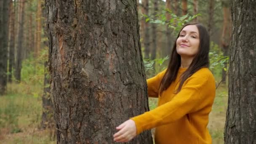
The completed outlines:
{"type": "MultiPolygon", "coordinates": [[[[157,15],[157,11],[158,11],[158,0],[154,0],[154,19],[156,19],[156,15],[157,15]]],[[[154,60],[156,58],[156,51],[157,51],[157,25],[156,24],[152,24],[152,48],[151,48],[152,52],[151,52],[151,59],[154,60]]],[[[155,67],[155,64],[154,66],[155,67]]]]}

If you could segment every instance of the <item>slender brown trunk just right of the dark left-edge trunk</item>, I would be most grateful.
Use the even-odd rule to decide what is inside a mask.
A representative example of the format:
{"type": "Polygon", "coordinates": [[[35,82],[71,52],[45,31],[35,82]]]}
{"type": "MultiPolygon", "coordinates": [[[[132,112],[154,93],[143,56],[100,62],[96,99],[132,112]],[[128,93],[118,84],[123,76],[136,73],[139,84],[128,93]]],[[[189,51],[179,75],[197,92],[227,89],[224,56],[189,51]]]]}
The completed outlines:
{"type": "Polygon", "coordinates": [[[10,47],[9,47],[9,75],[8,82],[12,82],[13,67],[15,65],[14,51],[15,51],[15,7],[13,6],[16,1],[10,0],[10,47]]]}

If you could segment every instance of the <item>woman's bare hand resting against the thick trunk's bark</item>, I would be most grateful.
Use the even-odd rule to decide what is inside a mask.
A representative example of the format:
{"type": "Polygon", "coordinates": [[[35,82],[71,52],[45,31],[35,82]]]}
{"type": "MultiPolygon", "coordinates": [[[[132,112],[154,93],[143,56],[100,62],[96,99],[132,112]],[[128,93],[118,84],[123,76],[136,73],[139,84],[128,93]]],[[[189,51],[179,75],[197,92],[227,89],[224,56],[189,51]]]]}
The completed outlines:
{"type": "Polygon", "coordinates": [[[114,134],[114,141],[116,142],[131,141],[131,139],[136,136],[137,129],[133,120],[126,120],[116,129],[118,130],[118,132],[114,134]]]}

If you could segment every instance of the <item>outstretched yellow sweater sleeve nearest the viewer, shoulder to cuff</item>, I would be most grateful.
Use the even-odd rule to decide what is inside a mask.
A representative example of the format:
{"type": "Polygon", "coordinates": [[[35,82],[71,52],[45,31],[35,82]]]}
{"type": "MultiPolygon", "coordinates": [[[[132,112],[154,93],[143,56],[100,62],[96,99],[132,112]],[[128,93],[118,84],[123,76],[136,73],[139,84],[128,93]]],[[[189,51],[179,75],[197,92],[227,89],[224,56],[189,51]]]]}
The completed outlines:
{"type": "MultiPolygon", "coordinates": [[[[137,134],[142,131],[155,128],[176,121],[184,115],[195,112],[205,107],[205,99],[208,99],[206,93],[211,92],[215,85],[207,82],[208,78],[189,77],[181,91],[173,99],[149,112],[131,118],[134,120],[137,128],[137,134]],[[202,93],[202,89],[204,92],[202,93]]],[[[214,89],[215,91],[215,89],[214,89]]],[[[211,99],[211,98],[210,98],[211,99]]]]}

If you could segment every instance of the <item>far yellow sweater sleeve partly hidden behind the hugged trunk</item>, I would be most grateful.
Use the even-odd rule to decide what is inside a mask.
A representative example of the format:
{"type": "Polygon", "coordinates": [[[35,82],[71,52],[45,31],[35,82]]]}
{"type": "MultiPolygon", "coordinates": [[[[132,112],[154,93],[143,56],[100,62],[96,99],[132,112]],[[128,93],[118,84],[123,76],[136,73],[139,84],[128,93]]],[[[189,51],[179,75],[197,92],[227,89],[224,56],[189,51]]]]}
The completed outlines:
{"type": "Polygon", "coordinates": [[[158,97],[158,89],[165,71],[166,69],[163,72],[157,74],[155,77],[147,79],[147,93],[149,97],[158,97]]]}

